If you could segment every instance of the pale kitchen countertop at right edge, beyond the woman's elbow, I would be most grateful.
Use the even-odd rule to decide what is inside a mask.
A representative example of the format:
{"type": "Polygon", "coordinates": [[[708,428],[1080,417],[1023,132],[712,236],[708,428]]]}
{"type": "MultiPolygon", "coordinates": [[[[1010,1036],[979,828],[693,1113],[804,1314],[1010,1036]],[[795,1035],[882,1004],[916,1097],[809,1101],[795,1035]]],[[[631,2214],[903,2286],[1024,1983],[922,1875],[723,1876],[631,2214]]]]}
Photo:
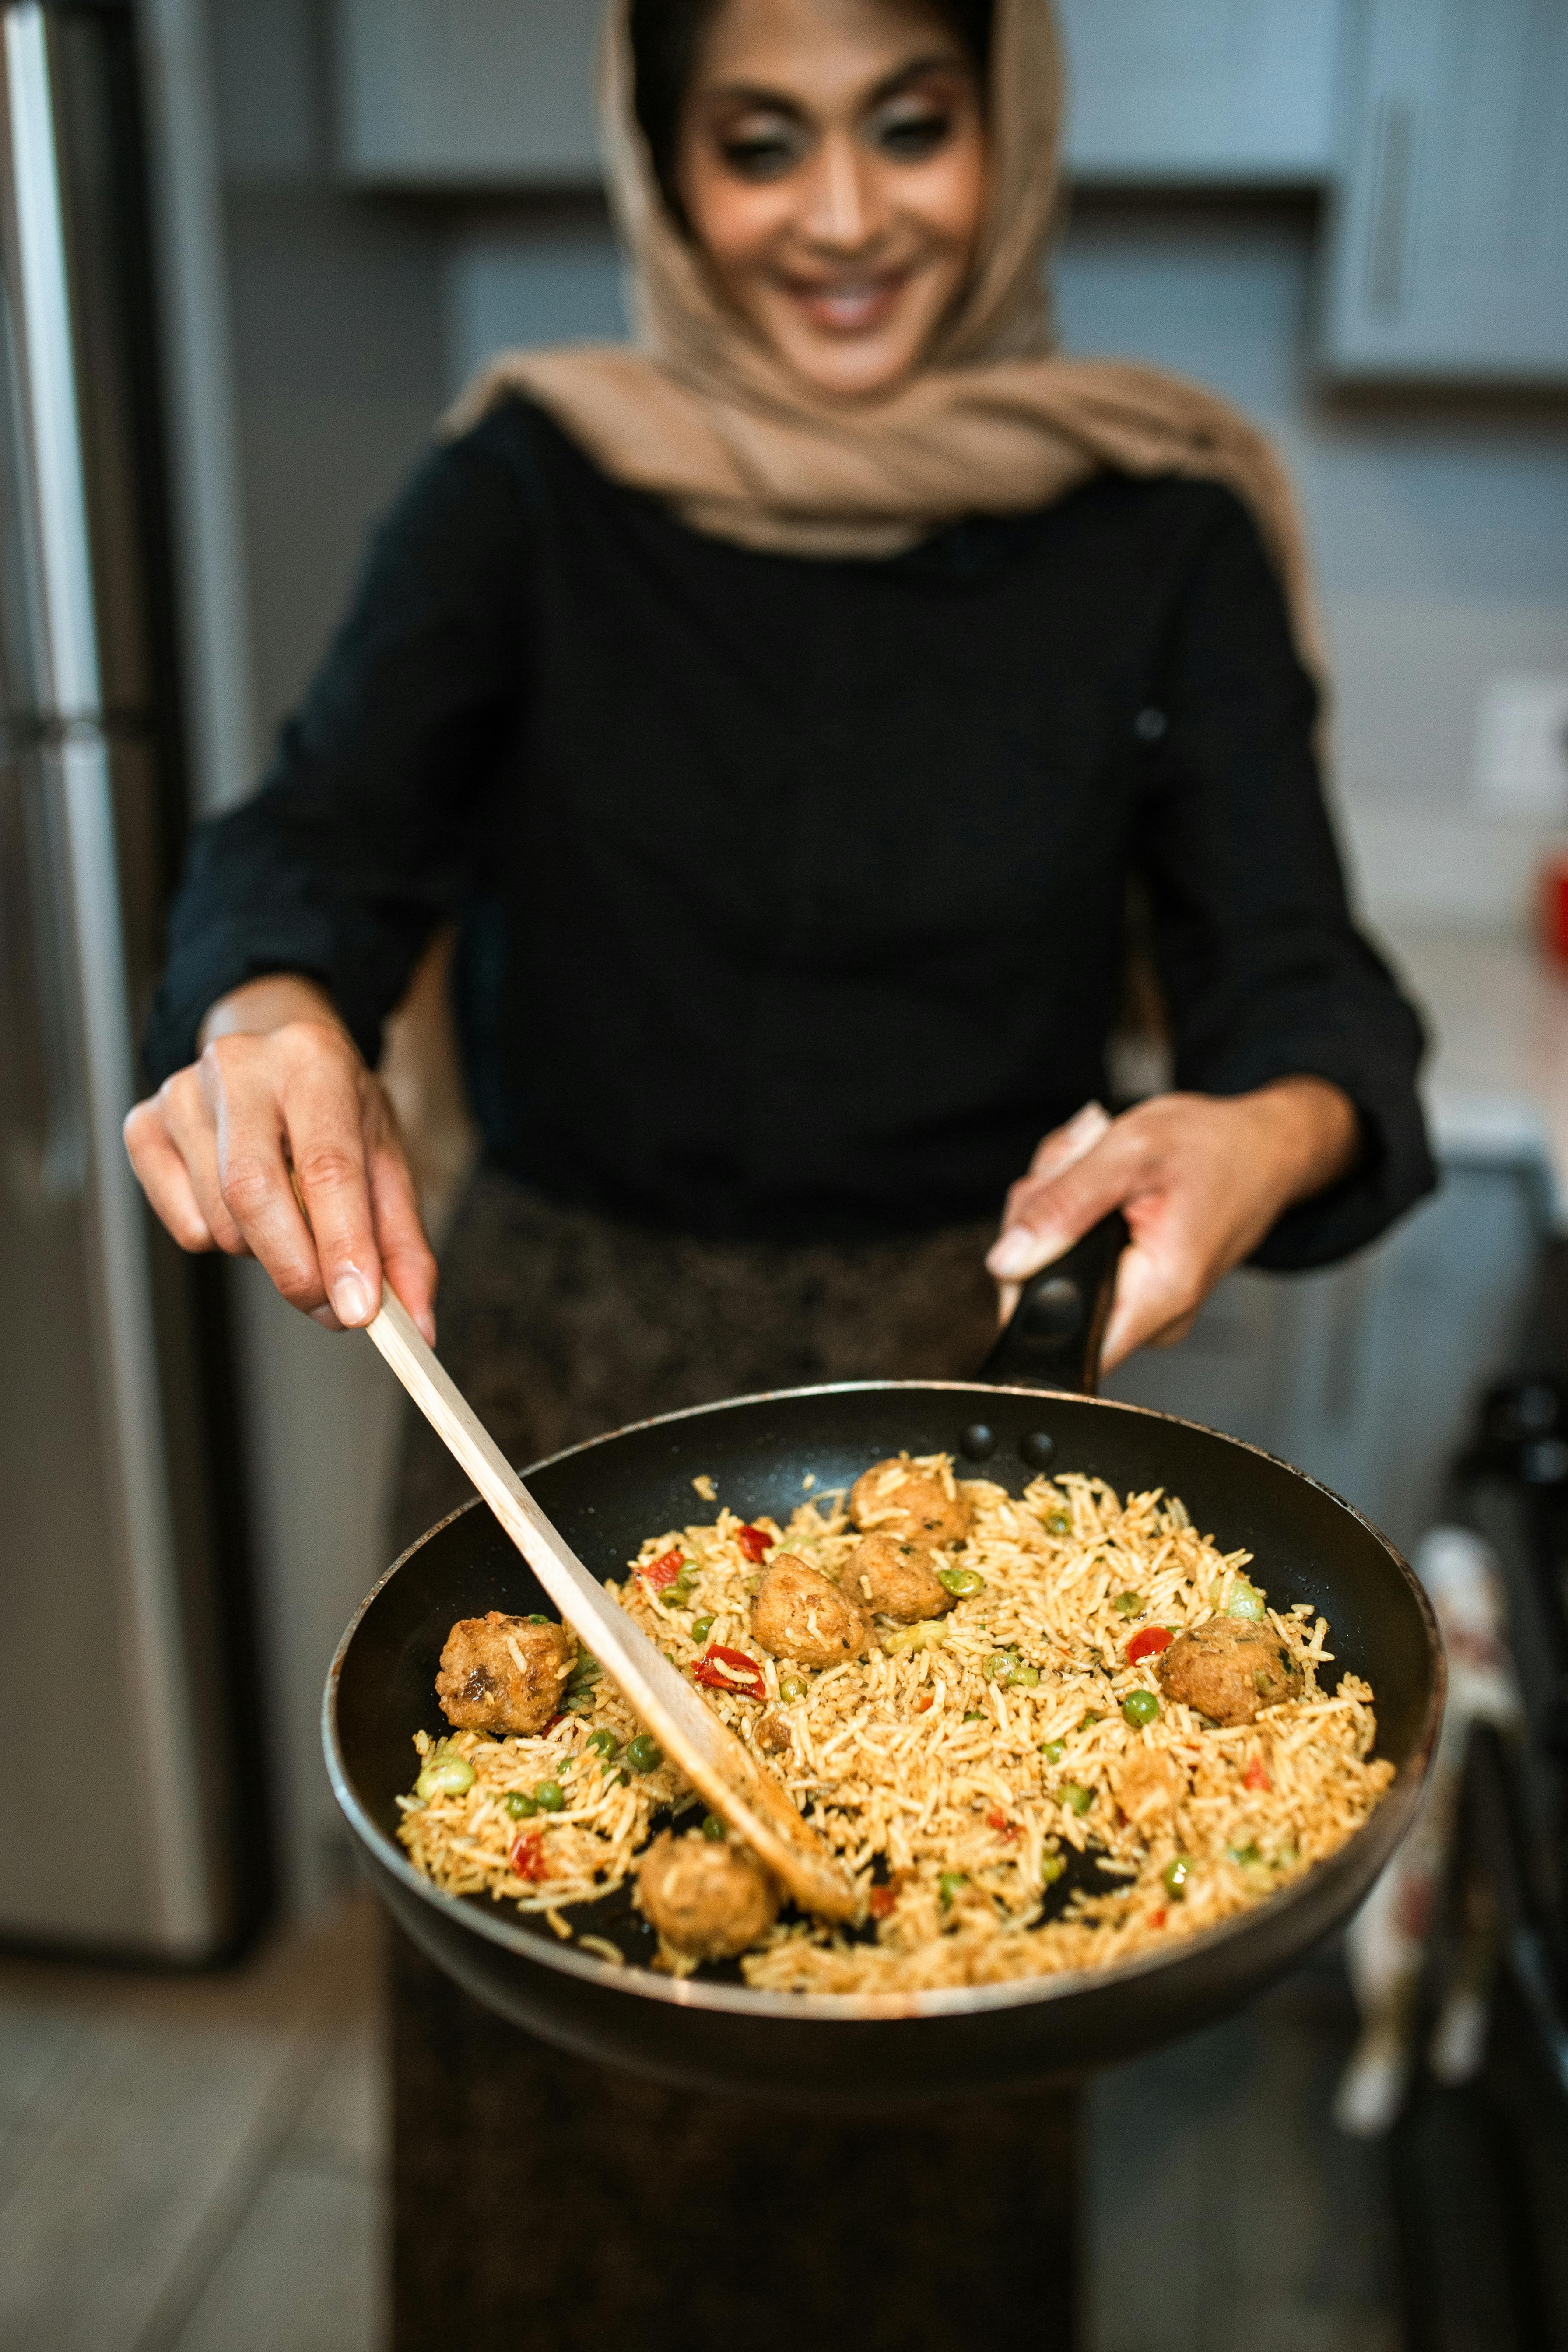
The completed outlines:
{"type": "Polygon", "coordinates": [[[1535,1162],[1568,1232],[1568,971],[1486,931],[1387,929],[1432,1028],[1425,1101],[1446,1162],[1535,1162]]]}

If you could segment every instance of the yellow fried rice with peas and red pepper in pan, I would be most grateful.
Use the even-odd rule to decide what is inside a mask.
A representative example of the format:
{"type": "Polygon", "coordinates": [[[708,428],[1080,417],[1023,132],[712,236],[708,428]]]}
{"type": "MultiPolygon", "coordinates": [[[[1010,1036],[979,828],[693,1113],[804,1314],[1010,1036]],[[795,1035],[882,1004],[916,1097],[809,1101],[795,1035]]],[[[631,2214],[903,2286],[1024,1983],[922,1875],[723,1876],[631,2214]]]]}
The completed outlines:
{"type": "MultiPolygon", "coordinates": [[[[954,1491],[947,1456],[910,1468],[954,1491]]],[[[712,1501],[710,1479],[693,1484],[712,1501]]],[[[1251,1552],[1220,1552],[1175,1496],[1121,1498],[1077,1475],[1037,1477],[1023,1498],[987,1479],[964,1494],[969,1536],[936,1559],[971,1571],[976,1590],[936,1621],[879,1618],[865,1658],[820,1672],[759,1651],[750,1602],[764,1543],[842,1573],[860,1531],[837,1494],[804,1501],[788,1526],[719,1508],[649,1536],[625,1581],[607,1583],[677,1668],[691,1672],[712,1644],[755,1661],[743,1686],[703,1696],[863,1889],[858,1933],[785,1912],[741,1959],[750,1985],[867,1994],[1114,1966],[1291,1886],[1394,1776],[1373,1755],[1368,1684],[1324,1679],[1326,1621],[1307,1604],[1269,1609],[1251,1552]],[[1232,1729],[1164,1696],[1152,1658],[1126,1656],[1143,1628],[1180,1635],[1227,1613],[1267,1618],[1300,1670],[1298,1696],[1232,1729]],[[1150,1778],[1168,1799],[1138,1804],[1150,1778]],[[1086,1867],[1063,1905],[1067,1849],[1086,1867]]],[[[571,1936],[562,1912],[635,1872],[656,1816],[698,1818],[696,1792],[651,1743],[632,1748],[637,1736],[621,1693],[581,1658],[564,1712],[536,1738],[418,1731],[423,1795],[400,1797],[397,1835],[447,1893],[545,1912],[571,1936]]],[[[609,1938],[581,1940],[623,1957],[609,1938]]],[[[691,1966],[668,1947],[658,1964],[691,1966]]]]}

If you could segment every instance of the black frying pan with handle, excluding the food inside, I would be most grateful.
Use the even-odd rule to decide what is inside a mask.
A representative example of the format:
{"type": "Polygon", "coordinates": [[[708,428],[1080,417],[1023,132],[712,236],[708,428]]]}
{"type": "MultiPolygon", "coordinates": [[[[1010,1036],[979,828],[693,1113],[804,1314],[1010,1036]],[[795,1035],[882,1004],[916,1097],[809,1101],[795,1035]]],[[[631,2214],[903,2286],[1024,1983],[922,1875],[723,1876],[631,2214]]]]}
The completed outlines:
{"type": "MultiPolygon", "coordinates": [[[[757,1992],[736,1964],[656,1973],[654,1936],[621,1889],[567,1912],[616,1945],[614,1964],[541,1915],[454,1898],[397,1844],[414,1731],[435,1703],[442,1642],[463,1616],[548,1606],[482,1503],[421,1536],[369,1592],[327,1677],[327,1769],[360,1858],[397,1924],[465,1992],[585,2058],[705,2091],[863,2112],[1025,2089],[1119,2063],[1234,2011],[1340,1926],[1408,1828],[1443,1710],[1443,1653],[1422,1588],[1361,1512],[1258,1446],[1088,1395],[1119,1218],[1030,1282],[978,1381],[846,1381],[736,1397],[632,1423],[527,1472],[529,1491],[597,1576],[621,1576],[644,1536],[684,1526],[693,1477],[726,1503],[788,1522],[806,1491],[849,1486],[891,1454],[954,1456],[1009,1494],[1044,1468],[1117,1491],[1166,1486],[1225,1550],[1255,1555],[1276,1609],[1309,1602],[1340,1670],[1378,1698],[1378,1755],[1394,1780],[1326,1863],[1255,1910],[1114,1969],[903,1994],[757,1992]],[[1053,1385],[1044,1385],[1053,1383],[1053,1385]]],[[[1051,1891],[1060,1907],[1084,1867],[1051,1891]]],[[[1105,1884],[1103,1879],[1098,1882],[1105,1884]]]]}

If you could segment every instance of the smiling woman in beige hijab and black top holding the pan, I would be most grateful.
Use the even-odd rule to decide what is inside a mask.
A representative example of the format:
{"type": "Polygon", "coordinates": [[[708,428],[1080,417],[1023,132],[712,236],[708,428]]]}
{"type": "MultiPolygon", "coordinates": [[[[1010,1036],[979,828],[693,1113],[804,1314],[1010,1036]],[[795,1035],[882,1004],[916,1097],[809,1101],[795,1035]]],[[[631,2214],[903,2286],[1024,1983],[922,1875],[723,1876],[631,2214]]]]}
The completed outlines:
{"type": "MultiPolygon", "coordinates": [[[[607,66],[639,346],[468,393],[197,840],[158,1214],[433,1334],[371,1070],[458,917],[444,1352],[517,1458],[969,1371],[985,1268],[1114,1204],[1107,1364],[1363,1244],[1432,1181],[1420,1033],[1345,908],[1291,494],[1208,395],[1048,358],[1046,0],[632,0],[607,66]],[[1128,877],[1178,1091],[1112,1120],[1128,877]]],[[[449,1486],[416,1446],[407,1534],[449,1486]]]]}

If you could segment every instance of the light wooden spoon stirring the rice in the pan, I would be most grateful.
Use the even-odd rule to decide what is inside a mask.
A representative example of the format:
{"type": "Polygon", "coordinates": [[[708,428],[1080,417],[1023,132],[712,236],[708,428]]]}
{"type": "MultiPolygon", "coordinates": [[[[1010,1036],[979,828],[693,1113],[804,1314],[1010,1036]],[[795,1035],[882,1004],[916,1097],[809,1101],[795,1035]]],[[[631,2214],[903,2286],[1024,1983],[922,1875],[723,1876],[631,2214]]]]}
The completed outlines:
{"type": "Polygon", "coordinates": [[[578,1642],[614,1677],[670,1762],[701,1790],[712,1811],[757,1849],[802,1910],[823,1919],[853,1919],[860,1910],[856,1889],[816,1830],[806,1828],[778,1780],[595,1583],[386,1284],[381,1312],[367,1329],[435,1435],[468,1470],[578,1642]]]}

